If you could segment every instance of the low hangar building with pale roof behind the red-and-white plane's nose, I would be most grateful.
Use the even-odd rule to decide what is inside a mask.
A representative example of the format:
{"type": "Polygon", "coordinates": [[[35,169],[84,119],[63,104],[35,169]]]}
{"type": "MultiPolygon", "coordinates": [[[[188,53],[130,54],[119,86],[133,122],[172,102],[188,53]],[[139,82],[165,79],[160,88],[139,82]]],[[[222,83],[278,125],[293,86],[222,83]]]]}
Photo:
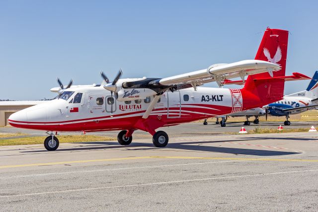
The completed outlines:
{"type": "Polygon", "coordinates": [[[46,101],[0,101],[0,127],[9,125],[8,117],[12,113],[44,102],[46,101]]]}

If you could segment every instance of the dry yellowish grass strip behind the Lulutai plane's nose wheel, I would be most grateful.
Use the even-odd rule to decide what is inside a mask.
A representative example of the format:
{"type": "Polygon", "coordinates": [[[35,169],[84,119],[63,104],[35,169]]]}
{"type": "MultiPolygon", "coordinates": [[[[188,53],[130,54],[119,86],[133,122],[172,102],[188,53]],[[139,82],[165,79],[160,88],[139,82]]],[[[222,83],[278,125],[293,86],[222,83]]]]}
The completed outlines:
{"type": "MultiPolygon", "coordinates": [[[[19,134],[21,135],[21,134],[19,134]]],[[[25,138],[9,138],[1,139],[0,146],[9,145],[25,145],[25,144],[42,144],[47,136],[35,136],[25,138]]],[[[115,137],[104,137],[99,135],[59,135],[60,143],[74,143],[74,142],[90,142],[90,141],[109,141],[116,140],[115,137]]]]}

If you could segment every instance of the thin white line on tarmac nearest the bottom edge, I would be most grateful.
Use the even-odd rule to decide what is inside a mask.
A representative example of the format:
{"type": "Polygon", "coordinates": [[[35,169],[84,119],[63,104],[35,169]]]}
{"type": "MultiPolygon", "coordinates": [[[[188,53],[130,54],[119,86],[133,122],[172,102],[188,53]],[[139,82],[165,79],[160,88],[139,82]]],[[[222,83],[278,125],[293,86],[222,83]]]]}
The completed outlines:
{"type": "Polygon", "coordinates": [[[114,189],[114,188],[155,186],[155,185],[165,185],[165,184],[173,184],[173,183],[188,183],[188,182],[209,181],[209,180],[218,180],[218,179],[227,179],[227,178],[229,179],[229,178],[257,177],[257,176],[291,174],[291,173],[301,173],[301,172],[314,172],[314,171],[318,171],[318,169],[301,170],[301,171],[289,171],[289,172],[263,173],[263,174],[253,174],[253,175],[225,176],[225,177],[202,178],[202,179],[191,179],[191,180],[177,180],[177,181],[166,181],[166,182],[158,182],[158,183],[144,183],[144,184],[133,184],[133,185],[108,186],[108,187],[87,188],[87,189],[70,189],[70,190],[64,190],[64,191],[39,192],[39,193],[20,194],[20,195],[6,195],[6,196],[0,196],[0,198],[35,196],[35,195],[45,195],[45,194],[58,194],[58,193],[67,193],[67,192],[92,191],[92,190],[103,190],[103,189],[114,189]]]}

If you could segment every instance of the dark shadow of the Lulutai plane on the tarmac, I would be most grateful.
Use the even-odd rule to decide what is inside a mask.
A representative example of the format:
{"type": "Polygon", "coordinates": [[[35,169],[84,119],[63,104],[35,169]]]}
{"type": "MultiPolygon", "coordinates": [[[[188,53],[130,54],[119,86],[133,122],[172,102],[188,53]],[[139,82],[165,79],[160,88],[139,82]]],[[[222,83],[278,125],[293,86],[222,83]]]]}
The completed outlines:
{"type": "MultiPolygon", "coordinates": [[[[265,138],[266,139],[266,138],[265,138]]],[[[277,139],[277,138],[275,138],[277,139]]],[[[247,140],[259,140],[247,139],[247,140]]],[[[236,140],[231,140],[236,141],[236,140]]],[[[241,141],[241,140],[237,140],[241,141]]],[[[272,150],[260,150],[260,149],[245,149],[245,148],[230,148],[230,147],[218,147],[218,146],[205,146],[202,144],[208,143],[222,143],[227,141],[190,141],[190,142],[171,142],[166,147],[161,147],[160,149],[178,149],[178,150],[191,150],[198,152],[219,152],[219,153],[228,153],[234,155],[255,155],[255,156],[279,156],[279,155],[293,155],[299,154],[298,152],[285,152],[285,151],[272,151],[272,150]]],[[[131,143],[129,146],[116,145],[117,142],[79,142],[77,144],[90,144],[85,146],[78,146],[74,148],[60,148],[55,152],[64,152],[64,151],[87,151],[87,150],[102,150],[102,149],[123,149],[125,151],[136,151],[136,150],[153,150],[159,149],[154,147],[152,143],[131,143]],[[111,146],[110,146],[111,145],[111,146]],[[114,146],[115,145],[115,146],[114,146]],[[143,148],[133,148],[131,147],[143,147],[143,148]],[[146,148],[145,148],[146,147],[146,148]],[[148,148],[147,148],[148,147],[148,148]]],[[[27,153],[35,152],[47,152],[47,150],[33,150],[33,151],[23,151],[27,153]]]]}

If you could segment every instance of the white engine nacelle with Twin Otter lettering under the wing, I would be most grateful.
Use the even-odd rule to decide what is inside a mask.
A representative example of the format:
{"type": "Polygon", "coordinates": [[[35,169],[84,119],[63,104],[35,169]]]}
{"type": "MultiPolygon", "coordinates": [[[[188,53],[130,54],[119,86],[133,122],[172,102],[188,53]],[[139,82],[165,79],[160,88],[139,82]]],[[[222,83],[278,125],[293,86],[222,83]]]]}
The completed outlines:
{"type": "Polygon", "coordinates": [[[146,99],[146,97],[150,97],[156,95],[157,93],[151,89],[121,89],[117,95],[118,101],[132,101],[139,99],[146,99]]]}

